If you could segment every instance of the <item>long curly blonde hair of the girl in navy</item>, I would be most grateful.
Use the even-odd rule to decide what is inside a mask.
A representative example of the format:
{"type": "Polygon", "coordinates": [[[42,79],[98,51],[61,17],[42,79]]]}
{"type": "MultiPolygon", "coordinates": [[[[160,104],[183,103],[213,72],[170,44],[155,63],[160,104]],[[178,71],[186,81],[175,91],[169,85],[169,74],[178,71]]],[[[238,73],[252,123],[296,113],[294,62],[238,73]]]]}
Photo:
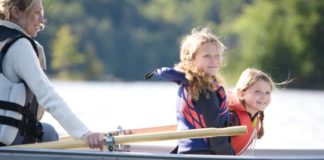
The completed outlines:
{"type": "Polygon", "coordinates": [[[201,93],[205,94],[208,98],[207,90],[215,90],[211,82],[221,83],[223,79],[219,74],[207,75],[193,65],[197,50],[205,43],[215,44],[220,55],[223,54],[226,48],[209,28],[194,28],[191,34],[183,38],[180,49],[180,62],[175,65],[176,69],[186,74],[186,79],[191,86],[189,87],[189,92],[193,100],[198,100],[201,93]]]}

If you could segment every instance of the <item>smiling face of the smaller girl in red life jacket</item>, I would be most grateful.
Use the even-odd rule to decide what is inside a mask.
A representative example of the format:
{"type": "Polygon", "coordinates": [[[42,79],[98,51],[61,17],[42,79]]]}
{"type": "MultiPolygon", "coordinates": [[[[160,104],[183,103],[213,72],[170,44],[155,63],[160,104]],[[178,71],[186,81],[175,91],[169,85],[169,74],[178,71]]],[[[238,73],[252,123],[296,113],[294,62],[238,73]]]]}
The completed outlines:
{"type": "Polygon", "coordinates": [[[269,82],[259,80],[242,92],[240,99],[245,101],[247,111],[254,114],[268,107],[271,102],[271,91],[269,82]]]}

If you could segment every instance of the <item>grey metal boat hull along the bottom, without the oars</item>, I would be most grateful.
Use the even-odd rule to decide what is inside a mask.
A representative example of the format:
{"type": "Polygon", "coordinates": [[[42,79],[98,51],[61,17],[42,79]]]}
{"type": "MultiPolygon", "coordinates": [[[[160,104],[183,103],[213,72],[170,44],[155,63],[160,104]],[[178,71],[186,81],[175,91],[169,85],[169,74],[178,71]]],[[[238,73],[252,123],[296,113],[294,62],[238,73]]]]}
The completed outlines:
{"type": "Polygon", "coordinates": [[[324,159],[324,149],[255,149],[243,155],[184,155],[170,154],[174,146],[131,145],[130,151],[98,151],[85,149],[0,148],[1,160],[235,160],[235,159],[324,159]]]}

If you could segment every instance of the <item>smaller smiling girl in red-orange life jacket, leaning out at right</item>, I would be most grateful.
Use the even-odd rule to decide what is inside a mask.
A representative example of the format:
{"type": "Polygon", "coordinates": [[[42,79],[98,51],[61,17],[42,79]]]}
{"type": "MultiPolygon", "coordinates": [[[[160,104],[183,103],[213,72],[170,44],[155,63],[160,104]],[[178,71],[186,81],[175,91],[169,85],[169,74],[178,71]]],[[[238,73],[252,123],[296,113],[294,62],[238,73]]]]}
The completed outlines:
{"type": "Polygon", "coordinates": [[[271,92],[275,84],[266,73],[247,68],[235,86],[235,95],[231,97],[230,109],[232,125],[246,125],[248,133],[231,137],[235,154],[241,154],[256,138],[264,134],[263,111],[271,102],[271,92]]]}

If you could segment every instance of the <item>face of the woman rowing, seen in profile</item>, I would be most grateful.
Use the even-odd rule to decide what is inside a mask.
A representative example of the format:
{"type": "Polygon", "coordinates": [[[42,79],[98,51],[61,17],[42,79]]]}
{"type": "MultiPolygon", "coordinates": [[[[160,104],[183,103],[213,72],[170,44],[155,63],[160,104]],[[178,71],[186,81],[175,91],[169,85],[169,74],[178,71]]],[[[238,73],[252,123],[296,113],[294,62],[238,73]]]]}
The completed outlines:
{"type": "Polygon", "coordinates": [[[22,27],[25,32],[31,36],[36,37],[44,23],[44,10],[41,0],[35,0],[29,11],[17,11],[17,24],[22,27]]]}

